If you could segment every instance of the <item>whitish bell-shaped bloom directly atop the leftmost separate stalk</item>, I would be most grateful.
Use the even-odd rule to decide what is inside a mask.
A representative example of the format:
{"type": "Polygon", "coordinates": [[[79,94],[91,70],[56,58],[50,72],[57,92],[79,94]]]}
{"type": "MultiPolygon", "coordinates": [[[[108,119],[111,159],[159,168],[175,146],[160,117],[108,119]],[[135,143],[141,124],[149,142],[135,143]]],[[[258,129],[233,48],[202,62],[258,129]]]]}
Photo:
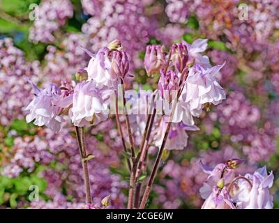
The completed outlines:
{"type": "Polygon", "coordinates": [[[108,106],[104,103],[103,90],[93,81],[80,82],[73,93],[70,117],[75,126],[96,125],[107,119],[108,106]]]}

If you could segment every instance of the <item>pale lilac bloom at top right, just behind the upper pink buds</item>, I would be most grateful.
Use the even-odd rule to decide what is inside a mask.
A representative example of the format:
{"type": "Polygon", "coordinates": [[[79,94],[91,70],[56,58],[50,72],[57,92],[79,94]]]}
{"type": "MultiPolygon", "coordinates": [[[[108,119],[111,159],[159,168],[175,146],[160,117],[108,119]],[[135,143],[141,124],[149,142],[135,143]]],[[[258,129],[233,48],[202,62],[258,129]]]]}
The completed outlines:
{"type": "Polygon", "coordinates": [[[200,54],[207,48],[207,39],[197,39],[192,43],[192,45],[183,41],[183,44],[186,45],[188,49],[188,63],[197,63],[203,68],[211,68],[209,57],[200,54]]]}

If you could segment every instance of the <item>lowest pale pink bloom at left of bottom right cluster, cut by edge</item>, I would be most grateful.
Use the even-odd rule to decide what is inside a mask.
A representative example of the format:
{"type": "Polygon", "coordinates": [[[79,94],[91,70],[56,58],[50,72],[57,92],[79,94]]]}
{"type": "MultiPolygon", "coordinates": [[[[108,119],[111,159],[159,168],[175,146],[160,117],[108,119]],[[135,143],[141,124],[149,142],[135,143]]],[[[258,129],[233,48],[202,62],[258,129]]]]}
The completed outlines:
{"type": "Polygon", "coordinates": [[[235,206],[229,197],[226,187],[222,190],[215,187],[206,201],[204,201],[202,209],[235,209],[235,206]]]}

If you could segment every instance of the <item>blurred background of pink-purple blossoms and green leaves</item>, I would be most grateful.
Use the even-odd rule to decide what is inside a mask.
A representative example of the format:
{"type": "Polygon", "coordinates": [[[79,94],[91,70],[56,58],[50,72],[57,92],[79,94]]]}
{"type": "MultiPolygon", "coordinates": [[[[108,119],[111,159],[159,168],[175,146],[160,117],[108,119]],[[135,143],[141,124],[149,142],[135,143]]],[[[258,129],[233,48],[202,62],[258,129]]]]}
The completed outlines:
{"type": "MultiPolygon", "coordinates": [[[[84,207],[73,128],[54,134],[24,121],[33,98],[28,81],[70,82],[89,61],[79,45],[96,52],[115,38],[129,54],[135,89],[156,88],[158,77],[143,68],[149,44],[208,38],[211,62],[227,61],[220,76],[227,100],[204,112],[187,148],[161,163],[148,208],[200,208],[206,174],[199,159],[214,165],[235,157],[246,161],[241,173],[273,170],[278,208],[278,11],[272,0],[0,0],[0,208],[84,207]],[[30,201],[30,185],[38,185],[40,201],[30,201]]],[[[87,131],[96,156],[89,162],[93,201],[110,194],[110,208],[124,208],[128,170],[115,122],[87,131]]],[[[155,156],[152,146],[149,159],[155,156]]]]}

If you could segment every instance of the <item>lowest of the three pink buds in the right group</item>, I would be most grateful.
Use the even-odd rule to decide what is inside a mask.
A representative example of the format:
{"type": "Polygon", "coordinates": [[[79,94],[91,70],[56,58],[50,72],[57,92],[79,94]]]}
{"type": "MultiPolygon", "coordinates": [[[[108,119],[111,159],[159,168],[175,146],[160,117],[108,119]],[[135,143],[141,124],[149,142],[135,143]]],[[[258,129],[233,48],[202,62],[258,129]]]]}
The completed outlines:
{"type": "Polygon", "coordinates": [[[179,77],[173,70],[167,70],[163,72],[160,70],[161,76],[158,82],[158,91],[162,98],[167,102],[172,101],[172,93],[175,93],[179,89],[179,77]]]}

